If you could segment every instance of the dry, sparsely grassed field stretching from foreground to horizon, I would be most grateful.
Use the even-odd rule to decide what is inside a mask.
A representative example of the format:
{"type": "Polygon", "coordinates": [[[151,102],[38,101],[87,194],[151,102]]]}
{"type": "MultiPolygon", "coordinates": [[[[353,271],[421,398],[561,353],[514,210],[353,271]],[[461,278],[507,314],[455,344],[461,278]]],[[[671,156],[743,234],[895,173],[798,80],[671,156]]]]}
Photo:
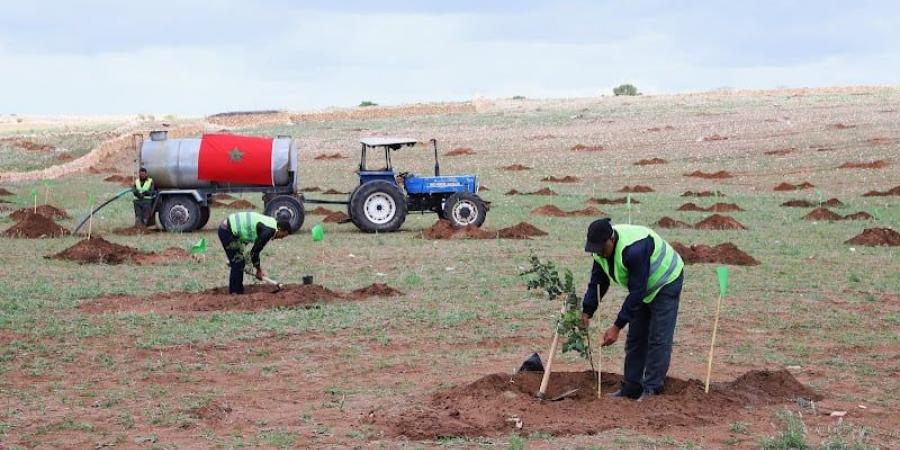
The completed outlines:
{"type": "MultiPolygon", "coordinates": [[[[0,237],[0,448],[900,447],[898,248],[845,243],[866,228],[900,231],[900,196],[864,196],[900,185],[900,89],[479,100],[368,111],[172,126],[292,135],[301,143],[301,184],[343,192],[357,182],[359,138],[433,137],[442,154],[472,150],[442,156],[441,167],[480,176],[488,188],[481,195],[491,202],[485,229],[525,221],[548,235],[430,240],[423,231],[435,217],[411,215],[400,232],[382,235],[325,223],[324,241],[313,242],[309,230],[324,216],[308,215],[299,234],[266,248],[263,265],[283,282],[311,274],[334,292],[289,289],[286,303],[267,304],[262,293],[240,305],[197,294],[227,284],[214,224],[228,209],[214,209],[198,233],[123,236],[114,230],[133,223],[131,204],[113,203],[92,228],[111,242],[161,252],[210,241],[200,257],[141,265],[45,258],[81,237],[0,237]],[[335,153],[345,158],[317,159],[335,153]],[[653,158],[664,162],[636,164],[653,158]],[[845,163],[873,168],[840,168],[845,163]],[[516,164],[530,169],[503,169],[516,164]],[[703,177],[720,171],[727,174],[703,177]],[[577,179],[542,181],[567,176],[577,179]],[[775,190],[781,183],[812,187],[775,190]],[[631,207],[589,201],[624,197],[619,191],[634,185],[652,192],[631,194],[631,207]],[[544,188],[558,195],[505,195],[544,188]],[[716,190],[718,198],[682,196],[716,190]],[[840,216],[871,217],[804,219],[831,198],[840,200],[831,208],[840,216]],[[781,206],[789,200],[811,206],[781,206]],[[687,245],[730,242],[759,261],[730,266],[714,397],[693,395],[696,384],[679,380],[705,376],[717,264],[685,268],[669,375],[686,393],[673,389],[672,397],[640,407],[586,394],[542,404],[525,393],[528,379],[516,378],[521,388],[506,383],[532,352],[546,352],[559,308],[526,290],[519,273],[530,254],[571,269],[581,291],[591,264],[582,251],[585,229],[597,216],[651,227],[663,217],[694,224],[715,211],[680,207],[717,201],[738,205],[720,214],[745,229],[657,228],[687,245]],[[532,213],[546,205],[601,212],[532,213]],[[401,293],[350,294],[373,283],[401,293]],[[748,373],[777,375],[763,380],[766,389],[796,378],[814,395],[790,395],[788,387],[784,395],[730,391],[737,384],[728,383],[748,373]],[[499,390],[488,389],[491,383],[499,390]]],[[[70,144],[72,128],[34,140],[77,147],[81,155],[150,126],[85,125],[75,130],[84,132],[77,145],[70,144]]],[[[0,171],[55,164],[7,145],[33,136],[3,128],[0,139],[10,141],[0,141],[0,171]]],[[[130,176],[131,159],[125,150],[100,166],[130,176]]],[[[433,160],[416,147],[395,154],[394,164],[428,174],[433,160]]],[[[32,205],[33,188],[39,203],[46,193],[71,216],[57,220],[71,229],[87,213],[89,194],[104,199],[123,189],[103,181],[110,175],[72,173],[46,192],[40,178],[7,181],[0,173],[0,187],[12,193],[0,197],[0,230],[15,225],[12,210],[32,205]]],[[[261,208],[258,196],[244,199],[261,208]]],[[[602,302],[595,338],[624,294],[612,289],[602,302]]],[[[609,380],[621,373],[623,341],[602,352],[609,380]]],[[[588,369],[571,355],[560,361],[554,369],[568,376],[588,369]]]]}

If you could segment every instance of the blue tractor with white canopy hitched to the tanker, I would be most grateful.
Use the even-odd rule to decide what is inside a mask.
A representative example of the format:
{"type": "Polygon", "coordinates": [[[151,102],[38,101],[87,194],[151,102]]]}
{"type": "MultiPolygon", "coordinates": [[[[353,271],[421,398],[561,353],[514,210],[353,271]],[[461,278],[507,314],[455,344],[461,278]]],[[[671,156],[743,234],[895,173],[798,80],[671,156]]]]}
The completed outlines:
{"type": "Polygon", "coordinates": [[[478,177],[441,175],[436,140],[429,141],[434,150],[434,176],[394,172],[391,153],[417,146],[416,139],[372,137],[360,143],[359,186],[350,194],[347,208],[350,219],[360,230],[396,231],[409,212],[437,213],[454,227],[480,227],[484,223],[487,206],[478,196],[478,177]],[[385,164],[372,169],[366,157],[377,150],[384,150],[385,164]]]}

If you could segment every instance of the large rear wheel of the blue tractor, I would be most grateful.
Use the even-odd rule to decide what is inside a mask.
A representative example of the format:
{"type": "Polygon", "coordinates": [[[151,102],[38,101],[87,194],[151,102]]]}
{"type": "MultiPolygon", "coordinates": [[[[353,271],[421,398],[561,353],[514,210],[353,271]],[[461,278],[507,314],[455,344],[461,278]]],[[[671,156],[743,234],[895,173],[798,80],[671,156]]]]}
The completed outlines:
{"type": "Polygon", "coordinates": [[[362,231],[397,231],[406,221],[406,197],[390,182],[370,181],[350,195],[348,211],[353,224],[362,231]]]}

